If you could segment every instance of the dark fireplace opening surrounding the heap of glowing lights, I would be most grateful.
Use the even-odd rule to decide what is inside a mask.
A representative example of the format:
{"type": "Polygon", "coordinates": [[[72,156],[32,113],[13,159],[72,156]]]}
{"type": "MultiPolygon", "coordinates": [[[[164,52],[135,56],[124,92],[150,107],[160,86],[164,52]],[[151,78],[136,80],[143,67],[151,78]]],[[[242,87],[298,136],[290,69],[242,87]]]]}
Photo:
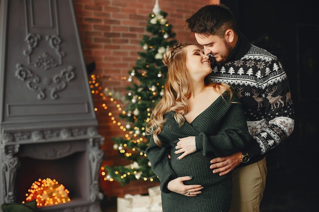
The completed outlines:
{"type": "MultiPolygon", "coordinates": [[[[45,145],[45,151],[52,149],[53,146],[79,146],[86,145],[85,142],[57,142],[45,145]],[[51,145],[51,146],[50,146],[51,145]]],[[[21,154],[31,149],[41,149],[39,144],[21,145],[21,154]]],[[[81,149],[77,148],[77,149],[81,149]]],[[[32,151],[31,151],[32,152],[32,151]]],[[[47,154],[45,154],[47,156],[47,154]]],[[[48,157],[50,158],[50,157],[48,157]]],[[[19,168],[16,175],[16,200],[25,201],[26,194],[32,184],[39,179],[55,179],[69,191],[70,202],[84,201],[89,197],[89,164],[88,154],[85,150],[74,152],[71,155],[56,159],[38,159],[30,156],[19,157],[19,168]]],[[[67,202],[68,203],[68,202],[67,202]]]]}

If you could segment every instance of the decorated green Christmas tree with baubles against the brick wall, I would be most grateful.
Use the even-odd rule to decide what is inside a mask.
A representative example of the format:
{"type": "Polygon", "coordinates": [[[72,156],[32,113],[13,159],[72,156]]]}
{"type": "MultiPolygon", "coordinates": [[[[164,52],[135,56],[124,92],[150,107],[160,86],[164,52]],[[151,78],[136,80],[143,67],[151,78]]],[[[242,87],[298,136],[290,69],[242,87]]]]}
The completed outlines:
{"type": "Polygon", "coordinates": [[[126,166],[108,166],[106,178],[119,181],[122,185],[130,180],[158,180],[151,170],[151,164],[145,154],[149,136],[145,135],[145,126],[149,121],[151,109],[163,96],[167,67],[163,64],[164,52],[174,46],[177,41],[172,25],[166,19],[167,13],[159,9],[156,1],[153,13],[149,15],[146,26],[148,35],[144,35],[136,65],[128,71],[128,81],[125,96],[127,105],[120,115],[126,124],[125,138],[113,138],[114,149],[130,161],[126,166]]]}

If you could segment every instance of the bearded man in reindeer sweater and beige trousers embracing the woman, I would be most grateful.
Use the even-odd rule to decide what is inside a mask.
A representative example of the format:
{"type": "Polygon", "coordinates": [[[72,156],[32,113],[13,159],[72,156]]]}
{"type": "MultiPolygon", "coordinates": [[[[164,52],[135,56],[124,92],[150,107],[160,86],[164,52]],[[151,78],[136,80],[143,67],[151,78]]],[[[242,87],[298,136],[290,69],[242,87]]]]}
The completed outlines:
{"type": "Polygon", "coordinates": [[[207,5],[186,20],[204,53],[212,55],[210,80],[228,83],[240,98],[253,141],[245,152],[211,160],[214,173],[232,171],[231,212],[259,211],[265,188],[265,153],[294,130],[287,75],[277,57],[252,45],[225,5],[207,5]]]}

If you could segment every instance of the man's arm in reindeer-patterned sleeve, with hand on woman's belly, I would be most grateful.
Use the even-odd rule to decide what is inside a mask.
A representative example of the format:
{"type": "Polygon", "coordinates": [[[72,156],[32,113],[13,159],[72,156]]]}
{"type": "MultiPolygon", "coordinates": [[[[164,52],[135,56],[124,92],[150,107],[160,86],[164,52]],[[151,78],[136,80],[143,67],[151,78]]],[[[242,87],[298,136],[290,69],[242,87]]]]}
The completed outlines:
{"type": "MultiPolygon", "coordinates": [[[[268,64],[272,73],[262,80],[261,96],[265,108],[265,120],[268,123],[248,121],[250,134],[253,136],[246,152],[251,158],[264,155],[285,140],[294,130],[294,107],[288,85],[287,75],[282,69],[280,62],[275,59],[268,64]],[[254,130],[257,126],[263,126],[258,132],[254,130]]],[[[241,164],[242,153],[238,152],[227,157],[215,158],[210,161],[210,168],[214,173],[224,175],[241,164]]]]}

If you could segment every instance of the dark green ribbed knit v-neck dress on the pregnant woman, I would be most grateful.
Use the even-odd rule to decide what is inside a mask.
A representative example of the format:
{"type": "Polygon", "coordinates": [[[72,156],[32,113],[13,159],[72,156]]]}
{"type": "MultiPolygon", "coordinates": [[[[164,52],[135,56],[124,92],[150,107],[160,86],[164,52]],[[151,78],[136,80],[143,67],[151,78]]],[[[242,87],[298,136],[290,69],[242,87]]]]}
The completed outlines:
{"type": "MultiPolygon", "coordinates": [[[[232,101],[238,102],[235,95],[232,101]]],[[[192,123],[185,121],[181,127],[176,123],[174,113],[165,114],[167,120],[158,135],[162,147],[157,146],[151,136],[146,149],[152,170],[161,181],[163,212],[228,212],[231,175],[213,174],[209,166],[211,159],[245,149],[250,141],[242,105],[230,103],[229,96],[224,99],[220,96],[192,123]],[[181,154],[174,153],[178,138],[188,136],[196,136],[197,152],[178,160],[181,154]],[[184,184],[203,186],[202,194],[188,197],[169,191],[169,181],[180,176],[193,176],[184,184]]]]}

